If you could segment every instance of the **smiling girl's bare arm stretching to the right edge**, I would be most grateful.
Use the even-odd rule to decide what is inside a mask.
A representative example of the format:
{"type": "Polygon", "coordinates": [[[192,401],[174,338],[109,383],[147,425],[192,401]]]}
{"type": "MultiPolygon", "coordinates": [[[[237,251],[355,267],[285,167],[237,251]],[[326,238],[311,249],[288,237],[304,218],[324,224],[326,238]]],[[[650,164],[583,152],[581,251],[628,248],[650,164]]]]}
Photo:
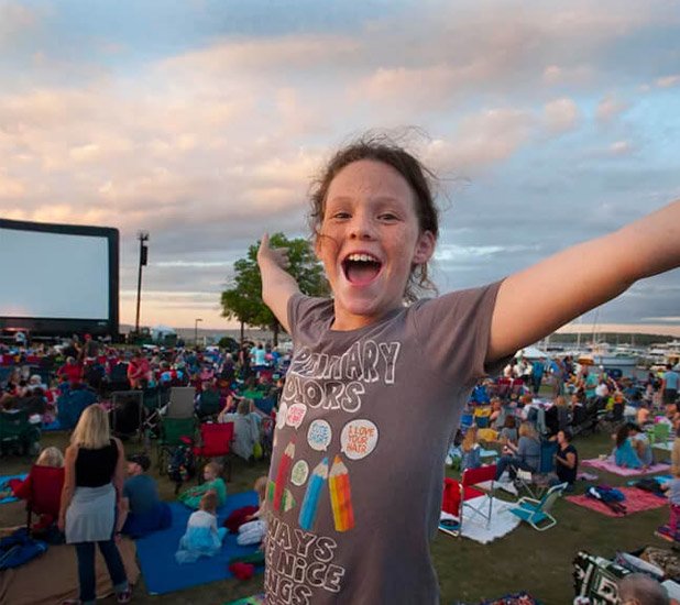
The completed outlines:
{"type": "Polygon", "coordinates": [[[680,266],[680,201],[511,275],[498,290],[487,361],[540,340],[634,282],[680,266]]]}

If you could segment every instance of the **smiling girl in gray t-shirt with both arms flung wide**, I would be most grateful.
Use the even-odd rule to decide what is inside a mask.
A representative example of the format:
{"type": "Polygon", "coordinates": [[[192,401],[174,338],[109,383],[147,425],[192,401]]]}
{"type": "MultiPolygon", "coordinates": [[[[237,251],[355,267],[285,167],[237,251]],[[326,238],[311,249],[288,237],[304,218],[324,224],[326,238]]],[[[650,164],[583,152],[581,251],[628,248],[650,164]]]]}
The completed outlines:
{"type": "Polygon", "coordinates": [[[476,381],[680,264],[674,202],[502,282],[418,300],[438,238],[427,175],[382,141],[331,160],[311,222],[332,299],[301,295],[262,239],[262,296],[295,343],[267,490],[270,604],[438,603],[445,453],[476,381]]]}

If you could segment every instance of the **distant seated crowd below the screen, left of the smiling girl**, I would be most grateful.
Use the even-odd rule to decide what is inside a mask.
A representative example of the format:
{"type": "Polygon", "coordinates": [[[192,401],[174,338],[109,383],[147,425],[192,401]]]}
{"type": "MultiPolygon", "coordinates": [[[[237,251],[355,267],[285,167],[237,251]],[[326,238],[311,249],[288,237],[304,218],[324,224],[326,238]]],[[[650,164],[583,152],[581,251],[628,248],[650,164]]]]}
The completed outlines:
{"type": "Polygon", "coordinates": [[[89,336],[83,341],[73,338],[58,348],[0,345],[0,366],[4,369],[0,409],[28,409],[33,417],[40,416],[44,426],[58,419],[62,428],[73,428],[87,405],[110,400],[112,392],[169,393],[173,386],[194,386],[197,406],[204,392],[219,397],[219,407],[204,420],[217,419],[220,411],[234,414],[239,420],[237,440],[245,442],[241,432],[257,431],[257,442],[266,451],[273,427],[271,421],[260,420],[271,420],[270,413],[277,407],[288,362],[288,355],[264,343],[252,350],[244,345],[238,355],[218,348],[131,350],[105,345],[89,336]],[[41,367],[40,374],[30,373],[35,366],[41,367]],[[248,431],[241,428],[240,418],[246,415],[237,410],[244,395],[256,404],[267,403],[264,413],[251,406],[254,427],[248,431]]]}

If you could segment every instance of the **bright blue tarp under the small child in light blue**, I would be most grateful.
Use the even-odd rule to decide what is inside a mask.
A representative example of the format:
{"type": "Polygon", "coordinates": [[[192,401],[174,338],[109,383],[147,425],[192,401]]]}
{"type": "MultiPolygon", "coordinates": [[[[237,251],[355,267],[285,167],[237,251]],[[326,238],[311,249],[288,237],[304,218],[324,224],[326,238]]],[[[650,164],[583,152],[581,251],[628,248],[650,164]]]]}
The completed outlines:
{"type": "MultiPolygon", "coordinates": [[[[233,510],[249,505],[257,506],[256,492],[229,495],[227,504],[217,512],[218,526],[221,526],[233,510]]],[[[175,552],[193,510],[178,502],[169,503],[169,506],[173,512],[173,525],[168,529],[154,531],[135,540],[138,559],[150,594],[167,594],[233,578],[229,571],[229,560],[251,554],[259,548],[257,544],[240,547],[237,544],[237,536],[228,534],[222,550],[217,556],[201,557],[195,563],[180,565],[175,561],[175,552]]]]}

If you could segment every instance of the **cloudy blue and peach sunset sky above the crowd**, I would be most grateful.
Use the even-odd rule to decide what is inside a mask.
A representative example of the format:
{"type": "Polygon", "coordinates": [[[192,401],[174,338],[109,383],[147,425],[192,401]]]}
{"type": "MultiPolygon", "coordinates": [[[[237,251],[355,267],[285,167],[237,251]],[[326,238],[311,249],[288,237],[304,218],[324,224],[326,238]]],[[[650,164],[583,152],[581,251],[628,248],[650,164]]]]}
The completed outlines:
{"type": "MultiPolygon", "coordinates": [[[[0,0],[0,216],[120,229],[129,323],[145,229],[142,323],[227,327],[329,153],[416,127],[436,280],[483,284],[680,197],[679,40],[680,0],[0,0]]],[[[680,272],[582,321],[680,333],[680,272]]]]}

